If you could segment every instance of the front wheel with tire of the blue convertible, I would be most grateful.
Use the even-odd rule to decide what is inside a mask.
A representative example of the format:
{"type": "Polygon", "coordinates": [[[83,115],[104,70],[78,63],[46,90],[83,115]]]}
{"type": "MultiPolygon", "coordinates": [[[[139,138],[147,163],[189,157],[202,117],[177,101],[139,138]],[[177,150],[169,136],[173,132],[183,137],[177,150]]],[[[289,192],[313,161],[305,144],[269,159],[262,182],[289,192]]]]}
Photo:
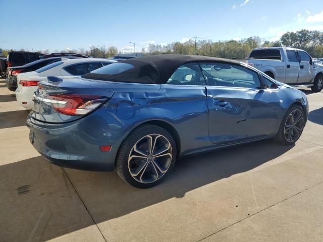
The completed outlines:
{"type": "Polygon", "coordinates": [[[301,136],[305,125],[304,111],[299,105],[292,105],[286,112],[277,134],[277,141],[283,145],[294,144],[301,136]]]}

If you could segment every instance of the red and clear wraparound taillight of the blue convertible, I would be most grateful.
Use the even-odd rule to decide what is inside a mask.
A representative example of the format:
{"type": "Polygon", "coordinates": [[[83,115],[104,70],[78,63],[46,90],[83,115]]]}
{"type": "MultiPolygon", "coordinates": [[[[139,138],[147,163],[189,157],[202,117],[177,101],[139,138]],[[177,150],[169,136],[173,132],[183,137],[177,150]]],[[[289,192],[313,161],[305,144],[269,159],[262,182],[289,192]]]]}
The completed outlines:
{"type": "Polygon", "coordinates": [[[106,102],[107,98],[82,94],[58,94],[36,99],[50,103],[59,113],[65,115],[85,115],[106,102]]]}

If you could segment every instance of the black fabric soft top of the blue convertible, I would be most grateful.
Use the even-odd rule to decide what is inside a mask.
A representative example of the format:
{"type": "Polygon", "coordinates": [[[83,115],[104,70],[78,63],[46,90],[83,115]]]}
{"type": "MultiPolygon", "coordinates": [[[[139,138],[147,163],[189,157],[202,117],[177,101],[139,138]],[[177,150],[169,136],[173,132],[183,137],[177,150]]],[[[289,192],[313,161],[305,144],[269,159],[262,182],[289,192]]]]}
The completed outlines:
{"type": "MultiPolygon", "coordinates": [[[[216,61],[229,64],[239,64],[237,61],[224,58],[215,58],[200,55],[184,55],[184,54],[159,54],[151,56],[142,56],[132,59],[126,59],[118,63],[110,65],[118,65],[119,63],[128,63],[134,66],[127,71],[119,74],[99,74],[88,73],[83,78],[112,81],[112,82],[131,82],[131,83],[148,83],[148,84],[165,84],[172,74],[181,65],[190,62],[209,62],[216,61]]],[[[104,68],[104,67],[102,67],[104,68]]]]}

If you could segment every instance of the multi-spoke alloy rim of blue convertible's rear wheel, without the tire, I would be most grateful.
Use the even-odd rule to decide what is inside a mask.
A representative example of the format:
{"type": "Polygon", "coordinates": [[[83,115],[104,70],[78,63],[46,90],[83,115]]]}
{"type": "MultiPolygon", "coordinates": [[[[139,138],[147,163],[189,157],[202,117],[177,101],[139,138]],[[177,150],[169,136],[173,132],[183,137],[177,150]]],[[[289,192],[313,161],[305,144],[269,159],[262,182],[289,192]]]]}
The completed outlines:
{"type": "Polygon", "coordinates": [[[139,183],[153,183],[164,176],[172,162],[172,146],[159,134],[139,139],[128,157],[128,169],[139,183]]]}

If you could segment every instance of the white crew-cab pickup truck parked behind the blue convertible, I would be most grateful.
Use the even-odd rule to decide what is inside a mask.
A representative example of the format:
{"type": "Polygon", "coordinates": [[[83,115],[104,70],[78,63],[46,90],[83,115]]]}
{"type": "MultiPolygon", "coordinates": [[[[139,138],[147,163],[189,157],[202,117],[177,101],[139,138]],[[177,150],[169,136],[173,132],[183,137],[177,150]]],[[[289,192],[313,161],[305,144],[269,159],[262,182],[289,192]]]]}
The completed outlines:
{"type": "Polygon", "coordinates": [[[301,49],[256,48],[248,58],[239,61],[290,86],[310,86],[314,92],[320,92],[323,88],[323,67],[315,65],[312,57],[301,49]]]}

